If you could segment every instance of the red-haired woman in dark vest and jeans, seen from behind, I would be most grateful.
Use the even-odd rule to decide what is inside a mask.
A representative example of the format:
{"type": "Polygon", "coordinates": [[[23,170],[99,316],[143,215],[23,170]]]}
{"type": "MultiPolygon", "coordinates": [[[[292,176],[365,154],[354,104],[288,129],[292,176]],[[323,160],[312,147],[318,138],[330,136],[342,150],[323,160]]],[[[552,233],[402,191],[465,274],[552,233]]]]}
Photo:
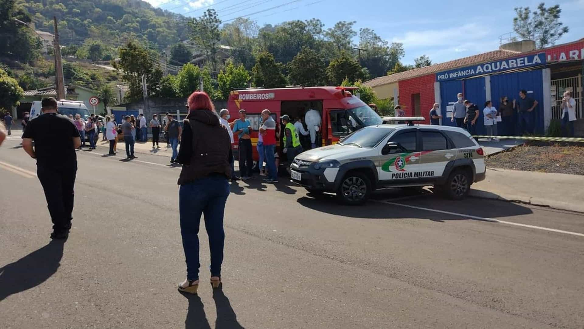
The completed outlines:
{"type": "Polygon", "coordinates": [[[211,285],[221,283],[223,263],[223,215],[230,193],[231,139],[220,124],[213,102],[205,92],[193,92],[188,100],[178,163],[180,234],[186,258],[186,280],[180,292],[197,293],[199,287],[199,224],[204,214],[211,253],[211,285]]]}

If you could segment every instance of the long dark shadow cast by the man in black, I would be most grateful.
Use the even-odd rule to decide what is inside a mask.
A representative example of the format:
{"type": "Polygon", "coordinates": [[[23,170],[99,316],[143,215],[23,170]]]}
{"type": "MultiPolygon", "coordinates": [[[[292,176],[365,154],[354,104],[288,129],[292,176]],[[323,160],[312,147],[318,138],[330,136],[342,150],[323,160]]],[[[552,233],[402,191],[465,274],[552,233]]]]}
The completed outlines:
{"type": "Polygon", "coordinates": [[[57,272],[65,241],[53,240],[43,248],[0,268],[0,301],[45,282],[57,272]]]}

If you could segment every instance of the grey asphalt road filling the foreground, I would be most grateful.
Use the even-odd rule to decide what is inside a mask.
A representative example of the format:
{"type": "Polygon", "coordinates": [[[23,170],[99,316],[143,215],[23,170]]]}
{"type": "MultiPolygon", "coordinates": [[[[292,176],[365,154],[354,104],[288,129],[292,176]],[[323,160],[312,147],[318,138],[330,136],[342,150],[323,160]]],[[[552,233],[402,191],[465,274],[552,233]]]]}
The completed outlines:
{"type": "Polygon", "coordinates": [[[78,152],[63,244],[18,143],[0,149],[0,328],[584,327],[582,214],[402,190],[347,207],[283,180],[239,183],[223,289],[185,297],[179,167],[78,152]]]}

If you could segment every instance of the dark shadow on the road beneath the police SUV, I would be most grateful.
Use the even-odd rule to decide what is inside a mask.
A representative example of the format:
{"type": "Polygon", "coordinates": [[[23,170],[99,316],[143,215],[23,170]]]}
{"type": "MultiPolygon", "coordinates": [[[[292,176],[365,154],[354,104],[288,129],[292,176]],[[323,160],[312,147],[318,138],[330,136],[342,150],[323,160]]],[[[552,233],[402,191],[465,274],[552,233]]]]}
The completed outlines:
{"type": "Polygon", "coordinates": [[[312,210],[354,218],[419,218],[434,222],[478,220],[455,214],[436,213],[415,208],[399,207],[393,204],[383,204],[383,201],[483,218],[511,217],[533,213],[530,208],[520,204],[470,197],[462,201],[451,201],[434,196],[427,190],[423,190],[417,195],[415,191],[401,191],[400,189],[380,191],[371,197],[371,201],[362,206],[343,205],[339,203],[337,197],[333,194],[316,195],[308,193],[307,196],[300,197],[297,200],[299,204],[312,210]]]}

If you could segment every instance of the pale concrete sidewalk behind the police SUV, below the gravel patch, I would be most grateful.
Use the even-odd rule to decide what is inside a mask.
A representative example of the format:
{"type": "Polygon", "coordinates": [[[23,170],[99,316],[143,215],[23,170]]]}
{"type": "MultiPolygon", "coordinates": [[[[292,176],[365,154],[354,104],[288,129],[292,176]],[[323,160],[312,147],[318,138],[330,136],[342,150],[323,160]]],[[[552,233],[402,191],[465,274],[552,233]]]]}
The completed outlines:
{"type": "Polygon", "coordinates": [[[472,184],[470,196],[584,213],[584,176],[487,168],[486,179],[472,184]]]}

